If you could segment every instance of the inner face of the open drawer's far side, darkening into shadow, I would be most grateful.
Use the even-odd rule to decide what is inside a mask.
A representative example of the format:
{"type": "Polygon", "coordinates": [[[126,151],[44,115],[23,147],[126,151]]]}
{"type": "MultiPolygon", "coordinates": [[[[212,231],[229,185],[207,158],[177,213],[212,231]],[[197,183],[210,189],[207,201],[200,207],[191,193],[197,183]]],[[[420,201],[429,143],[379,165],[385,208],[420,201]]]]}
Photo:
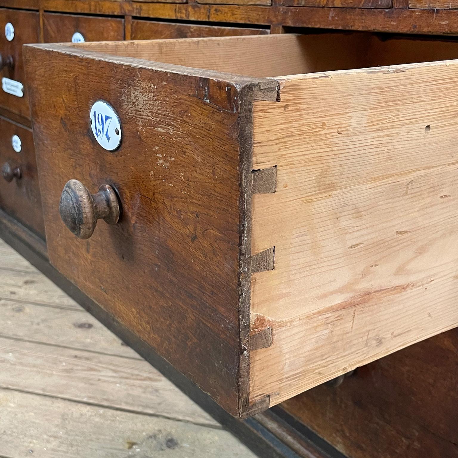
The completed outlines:
{"type": "Polygon", "coordinates": [[[370,33],[277,34],[84,43],[72,47],[265,78],[364,66],[371,37],[370,33]],[[354,52],[355,48],[358,53],[354,52]],[[289,52],[285,53],[284,49],[289,52]]]}

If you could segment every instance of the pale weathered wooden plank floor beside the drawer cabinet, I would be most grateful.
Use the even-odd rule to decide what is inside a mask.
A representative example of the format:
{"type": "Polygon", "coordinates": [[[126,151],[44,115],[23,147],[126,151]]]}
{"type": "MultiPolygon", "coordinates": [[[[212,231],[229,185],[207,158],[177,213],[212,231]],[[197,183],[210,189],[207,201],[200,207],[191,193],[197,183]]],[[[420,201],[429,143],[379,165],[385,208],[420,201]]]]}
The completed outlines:
{"type": "Polygon", "coordinates": [[[0,239],[0,458],[255,455],[0,239]]]}

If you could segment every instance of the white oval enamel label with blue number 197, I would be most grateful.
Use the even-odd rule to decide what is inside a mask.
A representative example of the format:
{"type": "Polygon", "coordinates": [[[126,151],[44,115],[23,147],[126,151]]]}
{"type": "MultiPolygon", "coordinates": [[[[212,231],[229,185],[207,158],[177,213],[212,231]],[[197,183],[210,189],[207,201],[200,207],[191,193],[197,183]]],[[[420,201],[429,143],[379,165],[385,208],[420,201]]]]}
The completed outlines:
{"type": "Polygon", "coordinates": [[[121,121],[114,108],[104,100],[93,104],[89,122],[98,144],[114,151],[121,144],[121,121]]]}

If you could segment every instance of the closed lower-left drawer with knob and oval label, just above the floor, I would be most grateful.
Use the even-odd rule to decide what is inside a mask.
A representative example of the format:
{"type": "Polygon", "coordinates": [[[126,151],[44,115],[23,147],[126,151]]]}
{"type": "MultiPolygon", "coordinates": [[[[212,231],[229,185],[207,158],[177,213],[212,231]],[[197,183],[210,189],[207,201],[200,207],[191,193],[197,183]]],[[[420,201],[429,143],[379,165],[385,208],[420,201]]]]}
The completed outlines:
{"type": "Polygon", "coordinates": [[[0,132],[0,207],[44,238],[32,130],[0,117],[0,132]]]}

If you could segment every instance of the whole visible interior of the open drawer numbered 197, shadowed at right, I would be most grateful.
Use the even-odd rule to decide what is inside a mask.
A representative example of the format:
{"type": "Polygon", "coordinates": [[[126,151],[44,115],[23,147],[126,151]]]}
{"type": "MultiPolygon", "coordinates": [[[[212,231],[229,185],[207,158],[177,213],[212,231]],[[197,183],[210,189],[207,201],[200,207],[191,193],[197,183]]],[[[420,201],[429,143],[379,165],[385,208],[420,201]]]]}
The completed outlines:
{"type": "Polygon", "coordinates": [[[259,78],[458,58],[453,38],[365,32],[139,40],[84,49],[259,78]]]}

